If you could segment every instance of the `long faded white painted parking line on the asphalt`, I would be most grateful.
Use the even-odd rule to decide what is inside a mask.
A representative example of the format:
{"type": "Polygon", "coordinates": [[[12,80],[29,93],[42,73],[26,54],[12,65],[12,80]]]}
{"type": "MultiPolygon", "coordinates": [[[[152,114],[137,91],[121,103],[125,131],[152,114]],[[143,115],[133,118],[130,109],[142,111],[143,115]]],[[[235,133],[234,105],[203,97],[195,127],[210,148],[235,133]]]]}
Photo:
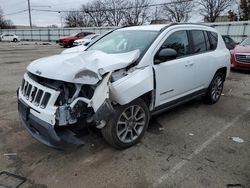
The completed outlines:
{"type": "Polygon", "coordinates": [[[203,144],[201,144],[196,150],[188,155],[186,159],[177,163],[172,169],[170,169],[166,174],[163,174],[160,178],[156,179],[153,184],[153,187],[160,186],[163,182],[165,182],[169,177],[174,175],[178,170],[180,170],[185,164],[187,164],[193,157],[202,152],[209,144],[211,144],[216,138],[218,138],[222,133],[224,133],[227,129],[232,127],[237,121],[239,121],[243,116],[249,113],[250,109],[247,109],[246,112],[235,117],[231,122],[226,124],[221,130],[212,135],[209,139],[207,139],[203,144]]]}

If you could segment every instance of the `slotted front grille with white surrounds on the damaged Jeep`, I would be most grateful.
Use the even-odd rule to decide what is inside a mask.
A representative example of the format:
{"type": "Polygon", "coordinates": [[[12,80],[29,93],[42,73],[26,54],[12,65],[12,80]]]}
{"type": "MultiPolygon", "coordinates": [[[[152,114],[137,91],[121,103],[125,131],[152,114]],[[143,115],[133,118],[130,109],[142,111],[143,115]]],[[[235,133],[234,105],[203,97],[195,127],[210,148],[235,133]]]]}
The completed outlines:
{"type": "Polygon", "coordinates": [[[27,101],[33,103],[35,106],[39,106],[40,108],[46,108],[51,98],[50,93],[37,88],[25,79],[23,79],[22,82],[21,93],[27,101]]]}

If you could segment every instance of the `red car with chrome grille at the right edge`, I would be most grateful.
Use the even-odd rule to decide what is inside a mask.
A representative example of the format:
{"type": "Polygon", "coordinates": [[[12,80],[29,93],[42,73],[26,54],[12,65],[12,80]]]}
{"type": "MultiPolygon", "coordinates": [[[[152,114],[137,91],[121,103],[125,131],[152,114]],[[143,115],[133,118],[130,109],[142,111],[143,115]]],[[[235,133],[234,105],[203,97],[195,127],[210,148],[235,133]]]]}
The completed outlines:
{"type": "Polygon", "coordinates": [[[237,45],[231,52],[231,68],[250,69],[250,37],[237,45]]]}

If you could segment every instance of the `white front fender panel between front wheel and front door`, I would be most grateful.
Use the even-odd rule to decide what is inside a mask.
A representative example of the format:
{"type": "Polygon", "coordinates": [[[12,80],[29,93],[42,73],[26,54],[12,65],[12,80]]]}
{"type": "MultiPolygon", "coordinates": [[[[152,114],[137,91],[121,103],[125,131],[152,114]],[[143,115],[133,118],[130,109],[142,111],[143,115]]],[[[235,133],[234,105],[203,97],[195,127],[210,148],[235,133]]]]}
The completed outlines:
{"type": "Polygon", "coordinates": [[[127,104],[154,89],[154,75],[151,66],[136,69],[127,76],[111,83],[110,99],[120,105],[127,104]]]}

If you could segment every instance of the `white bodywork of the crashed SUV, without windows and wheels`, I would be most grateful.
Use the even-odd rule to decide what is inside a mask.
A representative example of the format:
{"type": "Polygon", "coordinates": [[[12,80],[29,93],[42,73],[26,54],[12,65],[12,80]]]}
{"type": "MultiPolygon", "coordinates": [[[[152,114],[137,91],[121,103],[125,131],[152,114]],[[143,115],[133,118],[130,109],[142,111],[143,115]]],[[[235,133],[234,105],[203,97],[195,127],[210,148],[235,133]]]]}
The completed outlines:
{"type": "MultiPolygon", "coordinates": [[[[173,101],[204,94],[218,70],[225,71],[225,77],[229,73],[230,53],[220,34],[211,27],[195,24],[148,25],[121,28],[113,32],[119,31],[152,31],[158,34],[143,56],[140,56],[140,51],[136,49],[127,53],[107,54],[76,47],[77,50],[36,60],[27,67],[28,73],[25,74],[23,84],[18,90],[18,99],[30,109],[29,118],[34,122],[46,124],[44,126],[49,127],[46,129],[52,132],[49,134],[53,137],[53,142],[44,139],[42,133],[36,134],[25,118],[21,118],[24,126],[37,140],[55,147],[61,140],[55,128],[71,126],[78,121],[71,116],[68,109],[74,109],[79,103],[86,104],[93,110],[90,120],[93,122],[94,119],[96,126],[103,128],[107,121],[105,113],[108,114],[107,109],[112,109],[113,105],[126,105],[147,95],[148,109],[151,114],[155,114],[165,109],[163,106],[167,105],[168,108],[173,101]],[[204,35],[208,32],[215,33],[218,37],[217,47],[203,53],[154,63],[159,49],[172,34],[196,30],[204,35]],[[138,62],[134,64],[136,61],[138,62]],[[67,103],[59,104],[56,102],[58,96],[66,91],[37,81],[40,78],[55,83],[55,87],[65,83],[74,85],[76,89],[67,99],[67,103]],[[93,88],[91,98],[79,97],[79,92],[85,87],[93,88]],[[38,90],[41,90],[42,94],[39,94],[38,90]],[[47,100],[46,93],[49,99],[43,105],[43,101],[47,100]],[[39,99],[36,101],[37,98],[39,99]]],[[[19,112],[23,115],[20,109],[19,112]]]]}

